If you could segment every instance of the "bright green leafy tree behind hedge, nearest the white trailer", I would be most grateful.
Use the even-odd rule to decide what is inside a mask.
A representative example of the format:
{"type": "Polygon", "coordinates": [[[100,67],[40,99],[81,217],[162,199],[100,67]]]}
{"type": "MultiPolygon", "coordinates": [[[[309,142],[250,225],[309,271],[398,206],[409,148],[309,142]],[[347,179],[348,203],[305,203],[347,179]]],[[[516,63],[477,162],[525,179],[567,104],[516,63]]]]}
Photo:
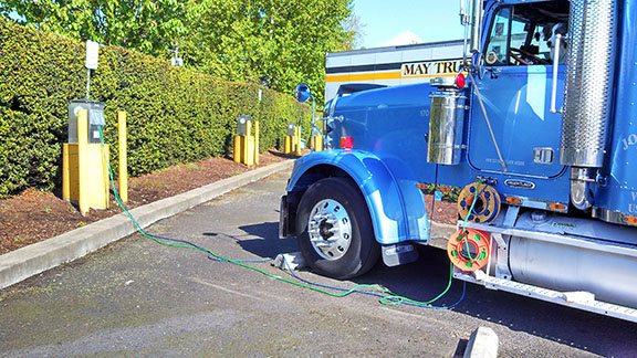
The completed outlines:
{"type": "Polygon", "coordinates": [[[345,30],[352,0],[203,0],[184,44],[203,72],[292,93],[299,82],[323,97],[325,53],[354,36],[345,30]]]}

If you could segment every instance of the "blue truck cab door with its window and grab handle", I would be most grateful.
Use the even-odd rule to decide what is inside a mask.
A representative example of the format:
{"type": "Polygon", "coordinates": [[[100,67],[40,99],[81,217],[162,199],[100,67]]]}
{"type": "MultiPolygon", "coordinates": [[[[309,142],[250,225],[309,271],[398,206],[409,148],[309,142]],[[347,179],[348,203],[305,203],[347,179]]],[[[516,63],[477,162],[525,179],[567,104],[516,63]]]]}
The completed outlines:
{"type": "MultiPolygon", "coordinates": [[[[528,6],[501,7],[488,29],[483,66],[474,75],[485,110],[473,88],[469,123],[468,158],[477,169],[544,178],[563,170],[557,160],[562,117],[550,112],[550,40],[563,18],[533,11],[528,6]]],[[[560,65],[557,108],[563,90],[564,66],[560,65]]]]}

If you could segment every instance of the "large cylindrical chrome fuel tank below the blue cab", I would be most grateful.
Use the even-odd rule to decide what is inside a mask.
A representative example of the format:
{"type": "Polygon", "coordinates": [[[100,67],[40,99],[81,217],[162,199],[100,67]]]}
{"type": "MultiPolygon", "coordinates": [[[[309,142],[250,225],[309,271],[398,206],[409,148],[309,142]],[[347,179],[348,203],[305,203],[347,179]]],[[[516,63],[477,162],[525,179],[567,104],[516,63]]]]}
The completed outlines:
{"type": "Polygon", "coordinates": [[[521,215],[515,229],[509,244],[514,281],[637,308],[637,230],[544,213],[521,215]]]}

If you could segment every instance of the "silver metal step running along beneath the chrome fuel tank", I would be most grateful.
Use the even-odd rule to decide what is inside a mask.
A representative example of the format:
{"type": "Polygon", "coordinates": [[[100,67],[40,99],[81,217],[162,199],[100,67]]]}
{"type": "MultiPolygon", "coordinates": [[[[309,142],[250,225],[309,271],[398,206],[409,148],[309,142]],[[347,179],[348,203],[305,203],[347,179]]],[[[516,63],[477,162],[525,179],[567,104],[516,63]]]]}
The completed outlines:
{"type": "Polygon", "coordinates": [[[482,271],[469,274],[458,268],[453,268],[453,277],[476,284],[487,288],[500,289],[522,296],[533,297],[563,306],[584,309],[592,313],[610,316],[624,320],[637,323],[637,309],[607,302],[596,301],[591,293],[583,292],[560,292],[544,287],[533,286],[515,281],[498,278],[484,274],[482,271]]]}

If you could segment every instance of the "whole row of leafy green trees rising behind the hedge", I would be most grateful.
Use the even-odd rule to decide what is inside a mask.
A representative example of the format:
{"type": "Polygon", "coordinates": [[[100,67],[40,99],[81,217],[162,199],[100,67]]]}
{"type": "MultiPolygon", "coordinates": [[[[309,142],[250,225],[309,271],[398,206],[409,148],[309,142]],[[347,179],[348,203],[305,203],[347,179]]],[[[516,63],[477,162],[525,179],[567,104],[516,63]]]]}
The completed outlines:
{"type": "Polygon", "coordinates": [[[0,0],[0,15],[79,40],[167,57],[283,93],[307,83],[323,97],[325,53],[354,49],[352,0],[0,0]],[[12,14],[12,15],[10,15],[12,14]]]}

